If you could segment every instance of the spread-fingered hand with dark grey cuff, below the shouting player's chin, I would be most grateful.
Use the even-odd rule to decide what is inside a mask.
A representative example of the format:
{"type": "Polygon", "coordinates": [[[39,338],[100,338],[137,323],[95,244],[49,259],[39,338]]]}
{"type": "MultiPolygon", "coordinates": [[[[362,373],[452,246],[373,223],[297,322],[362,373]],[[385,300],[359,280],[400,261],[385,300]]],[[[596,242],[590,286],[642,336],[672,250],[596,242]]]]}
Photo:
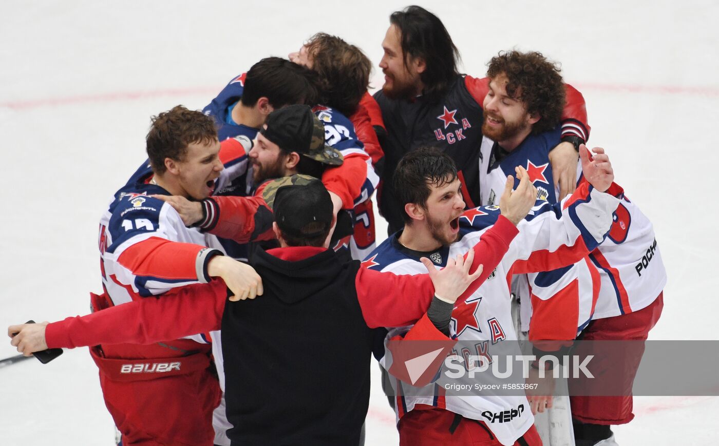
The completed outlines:
{"type": "Polygon", "coordinates": [[[484,265],[477,266],[477,270],[470,274],[474,259],[475,250],[470,249],[466,260],[462,254],[459,254],[457,259],[447,260],[447,266],[443,269],[436,269],[426,257],[419,260],[429,272],[429,279],[434,284],[434,294],[448,302],[456,302],[457,297],[482,275],[484,265]]]}

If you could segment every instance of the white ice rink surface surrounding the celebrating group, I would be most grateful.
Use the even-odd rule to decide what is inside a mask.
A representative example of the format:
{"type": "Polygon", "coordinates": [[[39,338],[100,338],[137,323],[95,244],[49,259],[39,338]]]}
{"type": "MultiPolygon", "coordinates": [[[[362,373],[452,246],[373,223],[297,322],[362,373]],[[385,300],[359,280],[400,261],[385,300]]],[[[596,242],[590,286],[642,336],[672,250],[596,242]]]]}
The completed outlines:
{"type": "MultiPolygon", "coordinates": [[[[88,312],[97,223],[145,159],[150,116],[202,108],[235,75],[323,31],[375,63],[404,2],[0,2],[0,327],[88,312]]],[[[584,93],[590,146],[654,222],[669,274],[651,339],[717,339],[719,4],[424,1],[482,76],[499,50],[561,61],[584,93]]],[[[380,225],[380,235],[384,228],[380,225]]],[[[17,354],[0,345],[0,358],[17,354]]],[[[701,367],[700,363],[687,367],[701,367]]],[[[373,366],[375,368],[375,366],[373,366]]],[[[677,376],[677,379],[682,379],[677,376]]],[[[717,397],[641,397],[620,445],[714,444],[717,397]]],[[[86,349],[0,368],[0,445],[112,445],[86,349]]],[[[367,445],[395,445],[373,388],[367,445]]]]}

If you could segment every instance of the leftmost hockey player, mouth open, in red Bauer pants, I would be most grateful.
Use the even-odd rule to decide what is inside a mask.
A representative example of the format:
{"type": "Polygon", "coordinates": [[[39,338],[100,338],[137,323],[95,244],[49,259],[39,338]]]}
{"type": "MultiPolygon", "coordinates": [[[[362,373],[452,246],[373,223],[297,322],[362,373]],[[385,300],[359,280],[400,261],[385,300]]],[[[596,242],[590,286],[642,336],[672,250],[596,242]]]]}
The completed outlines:
{"type": "MultiPolygon", "coordinates": [[[[147,134],[152,170],[141,167],[101,218],[99,248],[106,294],[93,309],[160,296],[170,289],[223,277],[236,297],[262,294],[250,266],[208,246],[214,236],[186,228],[168,204],[150,195],[208,197],[221,176],[214,122],[182,106],[160,113],[147,134]]],[[[233,299],[234,299],[233,298],[233,299]]],[[[173,339],[173,338],[169,338],[173,339]]],[[[211,414],[220,389],[203,335],[152,345],[96,345],[106,405],[124,445],[212,444],[211,414]],[[159,373],[157,364],[178,363],[159,373]],[[137,373],[125,373],[127,368],[137,373]]]]}

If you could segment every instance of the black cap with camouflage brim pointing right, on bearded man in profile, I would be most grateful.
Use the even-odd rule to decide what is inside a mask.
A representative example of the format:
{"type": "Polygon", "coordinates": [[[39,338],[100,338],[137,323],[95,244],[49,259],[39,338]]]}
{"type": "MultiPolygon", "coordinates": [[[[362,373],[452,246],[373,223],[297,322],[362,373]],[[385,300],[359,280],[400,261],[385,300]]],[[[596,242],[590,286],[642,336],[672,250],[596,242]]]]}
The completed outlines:
{"type": "Polygon", "coordinates": [[[342,153],[324,144],[324,124],[304,105],[273,111],[260,133],[285,152],[297,152],[331,166],[344,162],[342,153]]]}

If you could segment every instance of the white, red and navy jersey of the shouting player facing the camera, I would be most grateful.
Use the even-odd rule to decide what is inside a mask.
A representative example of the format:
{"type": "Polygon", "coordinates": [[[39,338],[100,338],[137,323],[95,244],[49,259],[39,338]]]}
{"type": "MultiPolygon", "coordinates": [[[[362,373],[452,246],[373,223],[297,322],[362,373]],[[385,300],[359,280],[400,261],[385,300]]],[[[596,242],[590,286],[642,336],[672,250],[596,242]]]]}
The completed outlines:
{"type": "MultiPolygon", "coordinates": [[[[472,341],[477,348],[477,352],[470,352],[472,355],[491,353],[492,345],[502,340],[516,340],[510,314],[508,280],[511,275],[557,268],[585,256],[603,240],[618,203],[617,198],[597,192],[585,184],[572,197],[564,200],[564,209],[560,205],[551,206],[548,203],[533,208],[530,215],[519,223],[518,236],[490,278],[466,301],[454,308],[450,325],[452,337],[472,341]]],[[[498,216],[497,206],[467,210],[459,218],[462,238],[434,252],[417,252],[405,248],[398,242],[397,233],[373,251],[365,260],[365,267],[395,274],[422,274],[426,269],[419,259],[426,256],[434,261],[437,268],[441,268],[446,265],[447,259],[464,254],[474,246],[498,216]]],[[[387,340],[407,329],[391,330],[387,340]]],[[[381,362],[389,370],[391,364],[386,360],[385,356],[381,362]]],[[[401,383],[399,385],[403,386],[401,383]]],[[[411,393],[399,391],[400,396],[395,404],[398,419],[416,404],[437,406],[467,418],[486,421],[503,445],[512,445],[533,424],[533,416],[527,410],[528,403],[523,395],[459,396],[446,394],[441,386],[435,386],[435,393],[431,396],[411,396],[411,393]],[[519,406],[522,406],[521,411],[518,411],[519,406]],[[515,411],[520,415],[504,422],[501,417],[485,416],[487,412],[495,414],[503,411],[515,411]]]]}

